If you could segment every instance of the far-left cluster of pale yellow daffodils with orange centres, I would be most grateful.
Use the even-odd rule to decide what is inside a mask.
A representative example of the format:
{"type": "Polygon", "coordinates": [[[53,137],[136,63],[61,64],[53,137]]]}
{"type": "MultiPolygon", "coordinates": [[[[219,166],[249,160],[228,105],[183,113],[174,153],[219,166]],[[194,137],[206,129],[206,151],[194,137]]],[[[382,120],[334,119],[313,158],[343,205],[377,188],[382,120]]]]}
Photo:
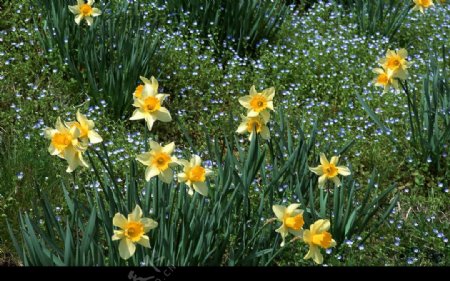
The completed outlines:
{"type": "Polygon", "coordinates": [[[94,121],[77,111],[77,121],[62,122],[58,117],[55,128],[44,130],[45,137],[51,140],[48,152],[67,161],[67,172],[73,172],[78,166],[89,167],[83,159],[83,153],[89,143],[103,141],[94,127],[94,121]]]}

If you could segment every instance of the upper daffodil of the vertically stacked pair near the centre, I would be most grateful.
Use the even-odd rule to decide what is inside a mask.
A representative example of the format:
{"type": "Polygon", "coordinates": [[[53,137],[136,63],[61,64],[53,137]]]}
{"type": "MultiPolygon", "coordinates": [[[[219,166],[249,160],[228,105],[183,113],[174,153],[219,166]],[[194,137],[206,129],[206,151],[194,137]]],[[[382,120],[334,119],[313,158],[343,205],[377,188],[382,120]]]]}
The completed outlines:
{"type": "Polygon", "coordinates": [[[260,115],[265,122],[269,121],[269,110],[273,108],[273,97],[275,96],[275,88],[271,87],[258,93],[255,86],[250,88],[250,94],[239,99],[239,103],[248,109],[248,117],[257,117],[260,115]]]}

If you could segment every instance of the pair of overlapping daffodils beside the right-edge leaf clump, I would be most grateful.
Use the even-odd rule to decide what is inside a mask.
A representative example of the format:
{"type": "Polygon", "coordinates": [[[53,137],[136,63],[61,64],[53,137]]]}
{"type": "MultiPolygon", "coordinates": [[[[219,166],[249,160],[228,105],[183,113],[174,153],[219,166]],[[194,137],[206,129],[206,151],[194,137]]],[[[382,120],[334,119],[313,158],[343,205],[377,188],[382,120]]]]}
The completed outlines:
{"type": "Polygon", "coordinates": [[[387,92],[390,87],[398,89],[398,80],[408,78],[408,68],[410,62],[406,60],[408,52],[405,49],[398,51],[388,50],[386,56],[379,60],[381,68],[374,68],[373,72],[377,77],[373,80],[375,86],[384,88],[387,92]]]}

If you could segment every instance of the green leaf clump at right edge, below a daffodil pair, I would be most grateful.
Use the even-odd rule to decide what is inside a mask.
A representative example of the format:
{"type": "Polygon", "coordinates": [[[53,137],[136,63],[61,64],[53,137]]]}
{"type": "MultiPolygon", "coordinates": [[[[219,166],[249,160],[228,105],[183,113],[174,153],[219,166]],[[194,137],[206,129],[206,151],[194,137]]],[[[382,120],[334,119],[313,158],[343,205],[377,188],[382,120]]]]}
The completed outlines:
{"type": "MultiPolygon", "coordinates": [[[[448,178],[448,162],[443,155],[450,145],[450,90],[447,81],[446,49],[442,47],[430,55],[427,73],[423,77],[422,93],[412,90],[408,81],[399,81],[405,93],[408,106],[411,154],[422,163],[428,162],[430,172],[448,178]],[[443,63],[439,63],[443,60],[443,63]]],[[[369,117],[396,143],[390,129],[383,124],[367,103],[357,95],[369,117]]]]}

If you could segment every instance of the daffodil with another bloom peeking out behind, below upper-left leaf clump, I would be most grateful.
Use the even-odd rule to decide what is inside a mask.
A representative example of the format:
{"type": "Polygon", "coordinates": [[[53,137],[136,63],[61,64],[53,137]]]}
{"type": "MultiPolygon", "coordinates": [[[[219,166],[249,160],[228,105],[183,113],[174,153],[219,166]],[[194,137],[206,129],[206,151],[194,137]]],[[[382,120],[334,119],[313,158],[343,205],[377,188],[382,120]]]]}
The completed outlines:
{"type": "Polygon", "coordinates": [[[144,86],[143,88],[138,86],[134,92],[133,106],[137,109],[133,112],[130,120],[145,119],[148,129],[151,131],[156,120],[172,121],[172,116],[170,116],[167,108],[161,106],[169,95],[158,94],[158,81],[153,76],[151,81],[142,76],[140,78],[144,82],[144,86]]]}

